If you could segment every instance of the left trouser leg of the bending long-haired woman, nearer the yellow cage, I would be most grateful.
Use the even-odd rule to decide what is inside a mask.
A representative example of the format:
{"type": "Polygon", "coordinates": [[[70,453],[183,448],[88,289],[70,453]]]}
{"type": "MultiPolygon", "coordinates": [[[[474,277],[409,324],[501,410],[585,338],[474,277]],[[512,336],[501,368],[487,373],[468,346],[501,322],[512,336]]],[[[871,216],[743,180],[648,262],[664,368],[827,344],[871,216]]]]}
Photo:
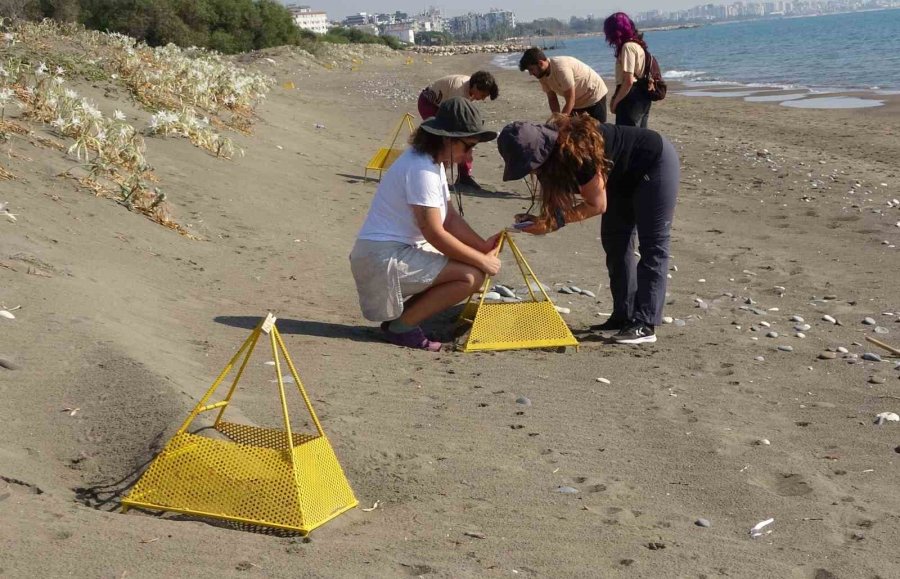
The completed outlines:
{"type": "Polygon", "coordinates": [[[627,322],[634,313],[637,290],[634,257],[634,209],[626,195],[608,195],[606,213],[600,224],[600,240],[606,252],[609,290],[613,298],[610,316],[615,322],[627,322]]]}

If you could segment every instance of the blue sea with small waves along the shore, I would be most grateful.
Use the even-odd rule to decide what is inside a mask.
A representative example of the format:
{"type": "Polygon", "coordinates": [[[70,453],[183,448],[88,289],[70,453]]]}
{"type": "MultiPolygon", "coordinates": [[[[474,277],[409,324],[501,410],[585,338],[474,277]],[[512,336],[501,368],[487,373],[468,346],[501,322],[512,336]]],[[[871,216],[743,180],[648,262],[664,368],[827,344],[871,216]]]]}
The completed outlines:
{"type": "MultiPolygon", "coordinates": [[[[900,9],[648,31],[644,40],[663,76],[682,83],[681,92],[692,96],[852,108],[879,106],[878,96],[900,95],[900,9]],[[772,89],[793,94],[782,101],[777,94],[754,96],[772,89]],[[849,91],[865,95],[821,98],[849,91]]],[[[614,53],[602,35],[535,42],[537,46],[559,42],[558,48],[546,50],[548,56],[574,56],[612,84],[614,53]]],[[[520,57],[504,54],[494,62],[518,69],[520,57]]]]}

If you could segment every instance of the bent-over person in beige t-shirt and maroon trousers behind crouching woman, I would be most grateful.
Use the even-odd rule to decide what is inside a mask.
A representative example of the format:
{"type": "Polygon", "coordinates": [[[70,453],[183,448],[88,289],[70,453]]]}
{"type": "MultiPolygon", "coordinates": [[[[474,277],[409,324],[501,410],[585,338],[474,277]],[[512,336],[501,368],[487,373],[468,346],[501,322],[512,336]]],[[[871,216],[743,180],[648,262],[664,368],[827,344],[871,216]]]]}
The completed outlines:
{"type": "MultiPolygon", "coordinates": [[[[492,101],[497,100],[500,95],[500,87],[491,73],[479,70],[472,76],[464,74],[451,74],[444,76],[422,89],[419,93],[419,116],[422,120],[430,119],[435,116],[438,107],[445,100],[453,97],[462,97],[469,101],[483,101],[490,98],[492,101]]],[[[457,165],[459,175],[456,178],[457,187],[468,188],[475,191],[481,189],[481,185],[472,177],[472,160],[459,163],[457,165]]]]}

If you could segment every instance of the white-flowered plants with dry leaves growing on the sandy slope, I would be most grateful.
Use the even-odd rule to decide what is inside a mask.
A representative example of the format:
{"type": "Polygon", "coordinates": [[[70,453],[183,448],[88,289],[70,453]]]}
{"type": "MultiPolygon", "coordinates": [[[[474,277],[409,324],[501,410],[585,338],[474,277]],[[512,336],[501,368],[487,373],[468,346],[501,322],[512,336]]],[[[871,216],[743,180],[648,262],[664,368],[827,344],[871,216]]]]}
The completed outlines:
{"type": "Polygon", "coordinates": [[[242,151],[221,131],[248,132],[254,107],[273,82],[214,51],[151,47],[121,33],[53,20],[0,19],[0,47],[0,135],[27,136],[65,151],[78,163],[65,176],[189,237],[172,218],[165,193],[153,185],[158,179],[145,157],[144,137],[185,137],[216,157],[231,158],[242,151]],[[126,88],[151,113],[146,127],[135,127],[119,110],[104,114],[67,82],[98,77],[126,88]],[[20,111],[15,119],[8,115],[13,107],[20,111]],[[67,144],[21,121],[40,123],[67,144]]]}

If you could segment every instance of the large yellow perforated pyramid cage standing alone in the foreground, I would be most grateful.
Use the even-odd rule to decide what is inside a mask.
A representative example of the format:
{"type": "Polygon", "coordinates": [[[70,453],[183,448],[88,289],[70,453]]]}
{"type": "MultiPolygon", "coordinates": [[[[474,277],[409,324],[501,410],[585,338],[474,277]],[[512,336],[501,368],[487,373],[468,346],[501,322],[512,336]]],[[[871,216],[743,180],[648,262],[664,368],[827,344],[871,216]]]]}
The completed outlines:
{"type": "Polygon", "coordinates": [[[262,525],[308,534],[358,504],[306,389],[269,314],[244,341],[178,432],[122,500],[122,510],[140,507],[262,525]],[[260,336],[267,334],[281,396],[284,428],[225,422],[260,336]],[[291,430],[279,352],[290,369],[315,425],[315,434],[291,430]],[[225,398],[210,398],[243,357],[225,398]],[[226,439],[188,432],[203,412],[218,410],[213,428],[226,439]]]}

